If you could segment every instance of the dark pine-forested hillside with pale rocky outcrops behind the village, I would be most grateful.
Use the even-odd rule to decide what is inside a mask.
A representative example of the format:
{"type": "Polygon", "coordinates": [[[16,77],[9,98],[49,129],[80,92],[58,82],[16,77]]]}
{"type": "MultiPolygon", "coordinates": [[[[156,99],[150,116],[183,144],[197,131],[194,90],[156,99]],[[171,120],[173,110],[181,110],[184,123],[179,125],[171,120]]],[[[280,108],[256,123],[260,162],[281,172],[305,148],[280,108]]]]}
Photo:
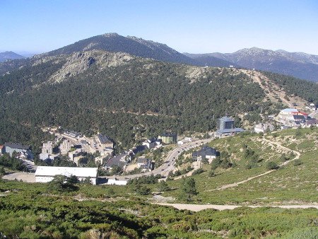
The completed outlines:
{"type": "MultiPolygon", "coordinates": [[[[264,91],[240,71],[98,50],[33,59],[0,82],[2,127],[61,125],[104,132],[123,146],[165,130],[206,132],[225,113],[281,107],[264,101],[264,91]]],[[[3,127],[1,142],[18,141],[13,131],[3,127]]]]}

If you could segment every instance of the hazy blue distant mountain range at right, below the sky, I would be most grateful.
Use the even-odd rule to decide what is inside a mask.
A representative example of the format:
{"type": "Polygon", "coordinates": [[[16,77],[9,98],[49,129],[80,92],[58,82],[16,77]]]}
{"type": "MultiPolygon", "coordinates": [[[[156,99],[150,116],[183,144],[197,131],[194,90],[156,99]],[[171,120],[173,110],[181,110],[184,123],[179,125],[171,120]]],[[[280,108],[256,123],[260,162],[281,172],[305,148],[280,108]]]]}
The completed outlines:
{"type": "Polygon", "coordinates": [[[318,82],[318,56],[312,54],[252,47],[225,54],[219,52],[195,54],[192,58],[199,57],[216,57],[248,69],[271,71],[318,82]]]}

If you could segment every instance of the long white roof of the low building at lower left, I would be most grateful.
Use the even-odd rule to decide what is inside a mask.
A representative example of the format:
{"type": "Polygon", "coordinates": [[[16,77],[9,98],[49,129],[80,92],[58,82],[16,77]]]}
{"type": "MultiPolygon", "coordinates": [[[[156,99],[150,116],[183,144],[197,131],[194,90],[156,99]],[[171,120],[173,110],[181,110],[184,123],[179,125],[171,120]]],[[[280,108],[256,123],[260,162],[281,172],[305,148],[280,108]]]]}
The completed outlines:
{"type": "Polygon", "coordinates": [[[98,168],[79,168],[79,167],[49,167],[37,166],[35,176],[55,176],[64,175],[70,177],[97,177],[98,168]]]}

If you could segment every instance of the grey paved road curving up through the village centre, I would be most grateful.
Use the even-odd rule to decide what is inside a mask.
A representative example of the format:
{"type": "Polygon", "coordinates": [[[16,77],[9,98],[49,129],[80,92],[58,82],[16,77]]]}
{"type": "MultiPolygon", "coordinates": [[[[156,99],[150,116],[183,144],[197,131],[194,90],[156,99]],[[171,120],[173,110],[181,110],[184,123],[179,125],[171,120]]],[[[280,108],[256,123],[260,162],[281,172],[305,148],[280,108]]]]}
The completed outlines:
{"type": "Polygon", "coordinates": [[[124,175],[124,176],[114,176],[118,180],[128,180],[136,177],[141,177],[141,176],[149,176],[149,175],[162,175],[163,177],[167,177],[167,175],[170,173],[170,171],[175,170],[175,160],[178,158],[178,156],[182,153],[182,151],[187,151],[189,148],[195,148],[197,146],[207,144],[209,141],[213,140],[211,139],[201,139],[201,140],[196,140],[192,141],[186,144],[183,144],[181,146],[177,146],[177,148],[172,149],[167,155],[167,158],[165,160],[165,163],[161,165],[158,168],[155,168],[151,172],[146,172],[146,173],[138,173],[134,175],[124,175]]]}

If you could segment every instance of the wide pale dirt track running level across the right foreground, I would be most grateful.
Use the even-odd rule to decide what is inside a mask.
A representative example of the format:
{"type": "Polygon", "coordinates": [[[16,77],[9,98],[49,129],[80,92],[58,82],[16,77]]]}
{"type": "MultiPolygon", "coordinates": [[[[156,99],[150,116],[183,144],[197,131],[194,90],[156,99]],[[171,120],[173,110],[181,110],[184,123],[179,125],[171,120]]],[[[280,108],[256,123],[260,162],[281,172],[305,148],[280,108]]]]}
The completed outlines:
{"type": "MultiPolygon", "coordinates": [[[[241,207],[240,205],[211,205],[211,204],[167,204],[167,203],[153,203],[153,204],[159,204],[162,206],[173,206],[176,209],[184,210],[187,209],[189,211],[201,211],[204,209],[217,209],[217,210],[232,210],[236,209],[237,207],[241,207]]],[[[318,204],[306,204],[306,205],[264,205],[264,206],[271,206],[271,207],[279,207],[281,209],[308,209],[308,208],[314,208],[318,209],[318,204]]],[[[251,205],[248,207],[257,208],[257,207],[264,207],[264,206],[257,206],[257,205],[251,205]]]]}

